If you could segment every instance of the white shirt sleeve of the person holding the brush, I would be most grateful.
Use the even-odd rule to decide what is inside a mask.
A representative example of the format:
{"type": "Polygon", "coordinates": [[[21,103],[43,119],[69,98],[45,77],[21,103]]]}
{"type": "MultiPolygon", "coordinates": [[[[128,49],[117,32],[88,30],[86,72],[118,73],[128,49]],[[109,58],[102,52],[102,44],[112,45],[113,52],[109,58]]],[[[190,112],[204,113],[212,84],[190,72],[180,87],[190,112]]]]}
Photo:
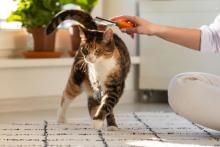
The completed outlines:
{"type": "Polygon", "coordinates": [[[220,53],[220,14],[215,21],[201,28],[200,51],[220,53]]]}

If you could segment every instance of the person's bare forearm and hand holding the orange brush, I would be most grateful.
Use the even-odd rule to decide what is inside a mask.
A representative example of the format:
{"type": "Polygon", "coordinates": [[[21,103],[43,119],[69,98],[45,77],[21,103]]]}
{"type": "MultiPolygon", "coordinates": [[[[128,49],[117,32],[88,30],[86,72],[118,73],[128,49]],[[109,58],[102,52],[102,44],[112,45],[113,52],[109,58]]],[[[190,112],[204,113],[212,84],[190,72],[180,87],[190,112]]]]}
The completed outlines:
{"type": "Polygon", "coordinates": [[[159,25],[138,16],[119,16],[112,18],[125,19],[135,24],[133,28],[122,28],[121,31],[133,35],[135,33],[149,36],[157,36],[169,42],[173,42],[191,49],[200,50],[201,30],[196,28],[178,28],[172,26],[159,25]]]}

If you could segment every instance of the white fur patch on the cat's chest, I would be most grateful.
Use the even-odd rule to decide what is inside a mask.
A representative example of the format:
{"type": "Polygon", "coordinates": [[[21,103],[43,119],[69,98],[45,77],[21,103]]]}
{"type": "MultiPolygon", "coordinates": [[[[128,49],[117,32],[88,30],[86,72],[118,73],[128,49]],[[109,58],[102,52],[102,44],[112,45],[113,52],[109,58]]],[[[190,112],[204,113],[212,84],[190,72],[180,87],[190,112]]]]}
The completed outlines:
{"type": "Polygon", "coordinates": [[[89,65],[89,76],[91,82],[100,82],[101,86],[103,87],[104,82],[108,76],[108,74],[111,72],[111,70],[114,68],[116,64],[116,60],[111,59],[97,59],[97,61],[94,64],[89,65]]]}

